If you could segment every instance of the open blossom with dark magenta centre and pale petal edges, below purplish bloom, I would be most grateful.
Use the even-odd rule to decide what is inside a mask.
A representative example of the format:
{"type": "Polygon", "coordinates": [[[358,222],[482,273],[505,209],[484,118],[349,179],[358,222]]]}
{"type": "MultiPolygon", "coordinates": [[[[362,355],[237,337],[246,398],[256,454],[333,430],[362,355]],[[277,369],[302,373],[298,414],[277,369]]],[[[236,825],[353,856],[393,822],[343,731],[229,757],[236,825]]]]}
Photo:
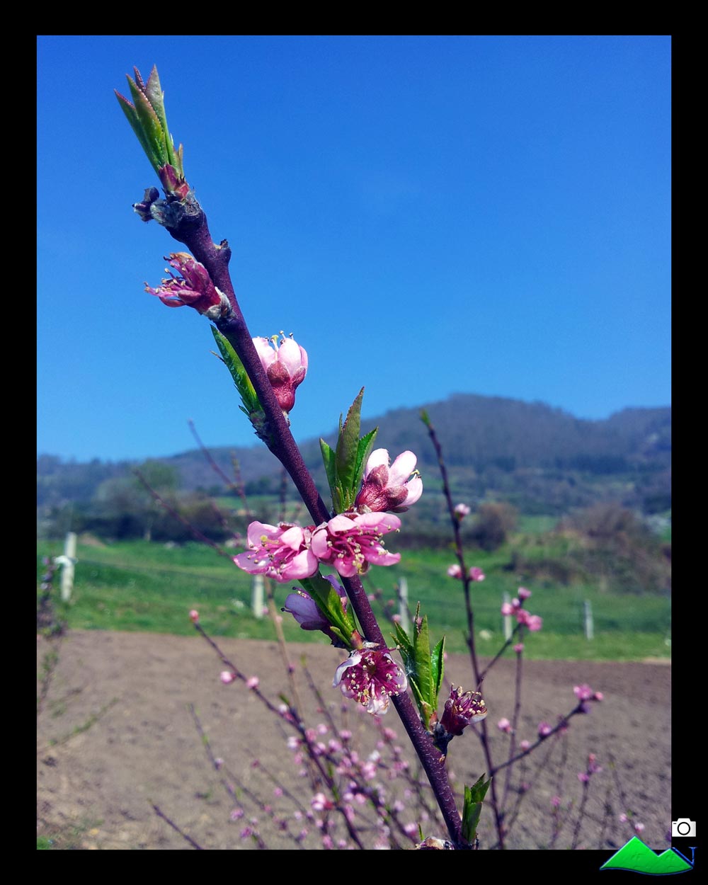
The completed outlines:
{"type": "Polygon", "coordinates": [[[366,712],[380,716],[389,709],[390,697],[408,688],[408,680],[388,650],[362,649],[352,651],[337,667],[332,685],[340,686],[342,695],[354,698],[366,712]]]}

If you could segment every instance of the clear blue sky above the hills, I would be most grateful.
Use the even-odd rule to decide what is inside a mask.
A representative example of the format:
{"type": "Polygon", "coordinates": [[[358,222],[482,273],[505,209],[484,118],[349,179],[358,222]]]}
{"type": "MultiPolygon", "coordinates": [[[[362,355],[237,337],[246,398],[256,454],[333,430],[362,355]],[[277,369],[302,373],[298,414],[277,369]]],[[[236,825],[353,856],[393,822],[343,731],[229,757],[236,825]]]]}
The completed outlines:
{"type": "Polygon", "coordinates": [[[113,96],[158,65],[253,335],[310,357],[298,439],[455,392],[670,404],[667,36],[41,36],[38,451],[257,443],[113,96]]]}

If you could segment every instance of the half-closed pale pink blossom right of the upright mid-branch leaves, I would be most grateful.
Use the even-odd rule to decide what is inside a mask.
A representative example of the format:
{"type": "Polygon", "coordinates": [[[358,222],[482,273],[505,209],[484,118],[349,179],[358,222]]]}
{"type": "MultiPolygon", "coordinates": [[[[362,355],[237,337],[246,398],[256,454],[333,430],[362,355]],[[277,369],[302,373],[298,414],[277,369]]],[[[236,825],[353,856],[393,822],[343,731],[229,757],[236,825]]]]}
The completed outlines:
{"type": "Polygon", "coordinates": [[[423,494],[423,481],[415,469],[412,451],[402,452],[389,467],[389,452],[373,450],[366,461],[364,480],[355,507],[364,513],[392,510],[401,513],[423,494]]]}

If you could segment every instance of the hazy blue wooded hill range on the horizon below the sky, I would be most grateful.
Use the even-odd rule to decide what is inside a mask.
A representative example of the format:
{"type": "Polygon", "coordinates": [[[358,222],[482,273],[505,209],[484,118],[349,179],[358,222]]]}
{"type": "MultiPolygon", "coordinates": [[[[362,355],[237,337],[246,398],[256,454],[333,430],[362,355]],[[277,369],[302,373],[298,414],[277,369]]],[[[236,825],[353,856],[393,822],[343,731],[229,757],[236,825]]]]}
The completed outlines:
{"type": "MultiPolygon", "coordinates": [[[[376,447],[391,456],[413,450],[419,459],[427,496],[440,489],[435,450],[420,420],[424,408],[443,445],[450,481],[460,500],[498,498],[520,512],[561,514],[599,500],[615,500],[652,513],[671,502],[671,409],[624,409],[604,420],[574,418],[543,403],[502,396],[456,394],[414,409],[396,409],[363,421],[366,431],[378,425],[376,447]]],[[[325,432],[335,441],[335,428],[325,432]]],[[[319,437],[301,445],[323,496],[327,483],[321,466],[319,437]]],[[[233,476],[238,460],[247,490],[277,487],[281,467],[265,446],[211,449],[212,457],[233,476]]],[[[179,473],[181,489],[222,488],[199,450],[158,458],[179,473]]],[[[89,501],[102,482],[127,475],[136,462],[94,459],[64,463],[37,459],[38,504],[42,508],[89,501]]],[[[424,496],[425,497],[425,496],[424,496]]],[[[431,505],[434,501],[431,500],[431,505]]],[[[424,513],[420,513],[424,517],[424,513]]]]}

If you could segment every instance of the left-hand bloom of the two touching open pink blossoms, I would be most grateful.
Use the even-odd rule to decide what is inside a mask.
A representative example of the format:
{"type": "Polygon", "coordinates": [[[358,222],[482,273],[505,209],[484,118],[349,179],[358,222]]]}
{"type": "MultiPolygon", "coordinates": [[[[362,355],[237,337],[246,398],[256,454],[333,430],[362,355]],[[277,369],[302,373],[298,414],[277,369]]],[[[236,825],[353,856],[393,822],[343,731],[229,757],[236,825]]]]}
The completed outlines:
{"type": "Polygon", "coordinates": [[[311,577],[318,568],[310,550],[312,531],[287,522],[278,527],[251,522],[249,550],[234,557],[235,564],[250,574],[266,574],[273,581],[299,581],[311,577]]]}

